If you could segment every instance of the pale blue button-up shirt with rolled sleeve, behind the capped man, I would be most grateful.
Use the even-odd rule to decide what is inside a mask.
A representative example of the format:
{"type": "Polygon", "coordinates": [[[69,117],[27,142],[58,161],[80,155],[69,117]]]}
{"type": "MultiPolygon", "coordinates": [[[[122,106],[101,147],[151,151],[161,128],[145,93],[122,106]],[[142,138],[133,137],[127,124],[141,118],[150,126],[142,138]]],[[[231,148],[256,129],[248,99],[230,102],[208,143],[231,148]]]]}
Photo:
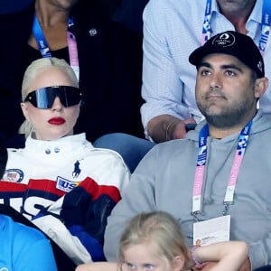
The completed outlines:
{"type": "MultiPolygon", "coordinates": [[[[145,127],[148,121],[159,115],[172,115],[184,119],[201,119],[195,102],[196,68],[188,61],[189,55],[201,46],[205,0],[150,0],[144,19],[144,61],[141,107],[145,127]]],[[[258,46],[261,30],[263,0],[257,0],[247,22],[248,35],[258,46]]],[[[216,0],[212,0],[212,35],[234,26],[222,14],[216,0]]],[[[271,37],[265,51],[266,77],[271,79],[271,37]],[[269,64],[270,63],[270,64],[269,64]]],[[[271,84],[260,107],[271,113],[271,84]]]]}

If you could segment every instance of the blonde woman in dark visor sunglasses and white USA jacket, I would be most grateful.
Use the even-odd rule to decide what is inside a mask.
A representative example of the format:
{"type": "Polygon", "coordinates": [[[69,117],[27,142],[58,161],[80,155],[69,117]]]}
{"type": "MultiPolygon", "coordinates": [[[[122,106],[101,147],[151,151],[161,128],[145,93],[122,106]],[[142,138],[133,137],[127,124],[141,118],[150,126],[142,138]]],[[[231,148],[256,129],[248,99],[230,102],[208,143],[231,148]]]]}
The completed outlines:
{"type": "Polygon", "coordinates": [[[47,233],[76,263],[103,260],[110,214],[129,180],[119,154],[73,135],[81,90],[70,65],[42,58],[23,77],[25,148],[8,149],[0,199],[47,233]]]}

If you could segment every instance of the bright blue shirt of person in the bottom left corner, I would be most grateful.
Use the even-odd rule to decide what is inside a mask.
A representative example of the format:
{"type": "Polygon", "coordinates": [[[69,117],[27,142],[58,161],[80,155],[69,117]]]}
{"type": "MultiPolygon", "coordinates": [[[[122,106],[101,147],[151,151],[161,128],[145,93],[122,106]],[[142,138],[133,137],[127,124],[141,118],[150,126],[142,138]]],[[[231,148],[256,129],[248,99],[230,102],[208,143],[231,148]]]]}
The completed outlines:
{"type": "Polygon", "coordinates": [[[56,271],[50,242],[41,231],[0,215],[1,271],[56,271]]]}

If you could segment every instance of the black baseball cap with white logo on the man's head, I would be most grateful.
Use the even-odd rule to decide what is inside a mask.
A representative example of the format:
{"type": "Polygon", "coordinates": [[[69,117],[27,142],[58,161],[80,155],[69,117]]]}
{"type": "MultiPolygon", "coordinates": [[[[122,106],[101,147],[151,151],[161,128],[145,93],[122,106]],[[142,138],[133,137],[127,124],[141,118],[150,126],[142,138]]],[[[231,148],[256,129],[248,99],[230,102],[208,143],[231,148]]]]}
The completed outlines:
{"type": "Polygon", "coordinates": [[[235,31],[226,31],[211,37],[204,45],[192,51],[189,61],[198,66],[205,56],[217,52],[236,57],[251,70],[255,70],[259,78],[265,76],[264,60],[257,45],[248,35],[235,31]]]}

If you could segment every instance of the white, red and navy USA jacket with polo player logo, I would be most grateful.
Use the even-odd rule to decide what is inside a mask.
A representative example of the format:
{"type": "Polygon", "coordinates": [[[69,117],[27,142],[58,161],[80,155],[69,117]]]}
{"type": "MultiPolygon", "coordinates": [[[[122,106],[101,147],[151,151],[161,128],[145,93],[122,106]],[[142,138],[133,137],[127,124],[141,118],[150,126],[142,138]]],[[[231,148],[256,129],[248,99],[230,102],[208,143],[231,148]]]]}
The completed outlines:
{"type": "Polygon", "coordinates": [[[99,261],[107,216],[129,177],[119,154],[94,148],[85,134],[29,136],[25,148],[8,149],[0,201],[33,220],[76,264],[99,261]]]}

